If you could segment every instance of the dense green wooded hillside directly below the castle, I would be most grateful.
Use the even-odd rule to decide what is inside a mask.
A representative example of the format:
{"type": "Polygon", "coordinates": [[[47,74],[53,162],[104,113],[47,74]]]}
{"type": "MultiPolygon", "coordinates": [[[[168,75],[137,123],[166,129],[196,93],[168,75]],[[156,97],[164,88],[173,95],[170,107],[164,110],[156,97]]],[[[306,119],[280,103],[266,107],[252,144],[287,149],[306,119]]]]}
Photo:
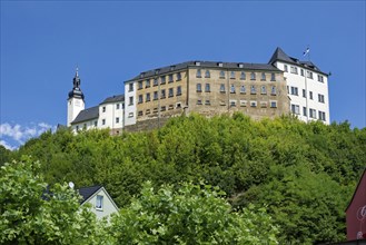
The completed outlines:
{"type": "Polygon", "coordinates": [[[48,131],[11,157],[32,155],[48,183],[102,184],[119,206],[181,182],[219,186],[236,208],[267,205],[280,243],[345,239],[345,208],[366,163],[366,129],[235,114],[171,118],[159,130],[48,131]]]}

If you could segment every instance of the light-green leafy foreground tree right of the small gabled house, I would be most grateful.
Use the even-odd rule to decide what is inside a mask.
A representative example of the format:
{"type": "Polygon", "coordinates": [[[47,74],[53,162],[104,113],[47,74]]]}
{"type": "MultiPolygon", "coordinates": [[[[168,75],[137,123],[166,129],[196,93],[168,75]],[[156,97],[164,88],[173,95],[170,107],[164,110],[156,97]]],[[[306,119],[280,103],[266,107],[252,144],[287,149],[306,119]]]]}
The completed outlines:
{"type": "Polygon", "coordinates": [[[277,244],[265,208],[233,212],[218,188],[181,184],[155,192],[146,183],[138,198],[111,219],[118,244],[277,244]]]}

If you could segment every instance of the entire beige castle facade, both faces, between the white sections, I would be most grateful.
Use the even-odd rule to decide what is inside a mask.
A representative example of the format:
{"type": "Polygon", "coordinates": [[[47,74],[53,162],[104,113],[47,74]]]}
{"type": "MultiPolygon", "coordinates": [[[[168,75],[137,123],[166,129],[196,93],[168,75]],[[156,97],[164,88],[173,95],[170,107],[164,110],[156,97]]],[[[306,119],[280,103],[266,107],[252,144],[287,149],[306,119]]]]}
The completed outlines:
{"type": "Polygon", "coordinates": [[[137,125],[128,130],[156,128],[169,117],[189,112],[211,117],[241,111],[254,119],[289,114],[289,99],[281,71],[190,66],[179,71],[140,78],[135,82],[137,125]],[[178,72],[181,79],[177,79],[178,72]],[[165,77],[165,82],[161,77],[165,77]],[[197,85],[200,85],[200,89],[197,85]],[[177,95],[178,87],[181,95],[177,95]],[[169,89],[172,89],[172,95],[169,95],[169,89]],[[158,98],[155,98],[155,94],[158,98]]]}

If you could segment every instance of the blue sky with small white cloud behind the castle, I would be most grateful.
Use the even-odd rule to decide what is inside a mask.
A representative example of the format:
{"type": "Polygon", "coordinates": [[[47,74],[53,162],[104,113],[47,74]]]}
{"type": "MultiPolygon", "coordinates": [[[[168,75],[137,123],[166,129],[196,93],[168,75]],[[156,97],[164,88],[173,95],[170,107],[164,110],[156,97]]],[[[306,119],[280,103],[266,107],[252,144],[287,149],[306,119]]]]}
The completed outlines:
{"type": "Polygon", "coordinates": [[[330,120],[365,122],[365,1],[1,1],[0,144],[66,125],[141,71],[188,60],[268,62],[280,47],[329,78],[330,120]]]}

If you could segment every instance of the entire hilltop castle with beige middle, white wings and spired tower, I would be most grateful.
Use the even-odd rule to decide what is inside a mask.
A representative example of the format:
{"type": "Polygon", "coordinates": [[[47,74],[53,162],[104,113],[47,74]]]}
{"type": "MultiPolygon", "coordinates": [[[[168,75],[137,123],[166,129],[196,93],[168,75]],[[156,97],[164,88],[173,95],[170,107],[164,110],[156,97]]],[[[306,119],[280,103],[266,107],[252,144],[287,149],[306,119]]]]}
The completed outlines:
{"type": "Polygon", "coordinates": [[[329,124],[328,75],[277,48],[268,63],[187,61],[140,72],[125,95],[85,109],[80,78],[68,99],[68,126],[109,128],[112,134],[151,129],[170,117],[241,111],[254,119],[294,114],[329,124]]]}

